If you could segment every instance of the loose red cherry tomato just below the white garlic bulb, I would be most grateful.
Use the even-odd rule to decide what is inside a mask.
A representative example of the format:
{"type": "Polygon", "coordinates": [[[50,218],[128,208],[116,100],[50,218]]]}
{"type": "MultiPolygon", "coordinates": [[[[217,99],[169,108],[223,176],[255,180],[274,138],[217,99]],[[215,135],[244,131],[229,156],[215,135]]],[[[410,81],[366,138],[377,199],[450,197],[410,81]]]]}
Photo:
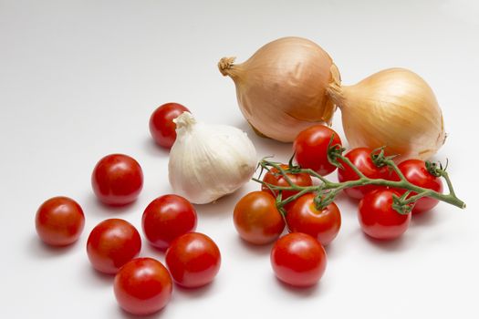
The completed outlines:
{"type": "Polygon", "coordinates": [[[196,210],[192,203],[179,195],[163,195],[147,206],[141,225],[151,245],[166,251],[171,242],[196,229],[196,210]]]}

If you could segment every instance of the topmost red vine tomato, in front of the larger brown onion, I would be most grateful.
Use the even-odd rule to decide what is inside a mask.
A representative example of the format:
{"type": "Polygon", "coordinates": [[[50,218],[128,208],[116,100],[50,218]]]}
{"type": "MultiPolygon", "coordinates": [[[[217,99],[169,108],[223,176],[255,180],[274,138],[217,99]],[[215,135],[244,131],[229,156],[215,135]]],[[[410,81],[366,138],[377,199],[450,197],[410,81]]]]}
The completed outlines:
{"type": "Polygon", "coordinates": [[[336,166],[328,160],[329,143],[331,146],[342,145],[338,133],[324,125],[315,125],[301,131],[293,145],[299,166],[316,170],[322,176],[336,170],[336,166]]]}

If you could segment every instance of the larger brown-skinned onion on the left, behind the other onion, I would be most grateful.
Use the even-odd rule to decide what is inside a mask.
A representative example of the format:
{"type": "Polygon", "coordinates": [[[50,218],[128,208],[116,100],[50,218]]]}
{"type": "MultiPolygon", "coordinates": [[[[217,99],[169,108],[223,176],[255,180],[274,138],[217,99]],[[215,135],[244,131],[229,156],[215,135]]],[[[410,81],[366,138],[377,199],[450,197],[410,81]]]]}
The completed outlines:
{"type": "Polygon", "coordinates": [[[339,84],[339,72],[316,43],[283,37],[245,63],[233,63],[234,57],[224,57],[218,67],[234,80],[241,111],[259,135],[291,142],[318,122],[330,124],[335,108],[326,89],[339,84]]]}

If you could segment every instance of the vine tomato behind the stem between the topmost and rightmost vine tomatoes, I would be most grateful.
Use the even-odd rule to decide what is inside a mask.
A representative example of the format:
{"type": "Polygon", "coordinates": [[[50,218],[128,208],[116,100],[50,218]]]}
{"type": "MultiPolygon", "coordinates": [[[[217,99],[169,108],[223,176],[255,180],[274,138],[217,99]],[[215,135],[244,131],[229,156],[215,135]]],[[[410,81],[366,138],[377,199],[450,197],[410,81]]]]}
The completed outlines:
{"type": "MultiPolygon", "coordinates": [[[[390,178],[390,171],[386,166],[384,167],[377,167],[374,165],[374,162],[371,159],[371,149],[367,148],[359,148],[359,149],[351,149],[345,155],[357,168],[360,172],[362,172],[366,177],[370,179],[384,179],[388,180],[390,178]]],[[[359,180],[358,174],[354,170],[352,170],[348,164],[339,160],[343,169],[338,169],[338,180],[340,182],[349,181],[349,180],[359,180]]],[[[353,187],[344,190],[346,194],[353,199],[360,200],[364,197],[364,195],[371,190],[379,190],[383,189],[381,186],[377,185],[366,185],[366,186],[359,186],[353,187]]]]}

